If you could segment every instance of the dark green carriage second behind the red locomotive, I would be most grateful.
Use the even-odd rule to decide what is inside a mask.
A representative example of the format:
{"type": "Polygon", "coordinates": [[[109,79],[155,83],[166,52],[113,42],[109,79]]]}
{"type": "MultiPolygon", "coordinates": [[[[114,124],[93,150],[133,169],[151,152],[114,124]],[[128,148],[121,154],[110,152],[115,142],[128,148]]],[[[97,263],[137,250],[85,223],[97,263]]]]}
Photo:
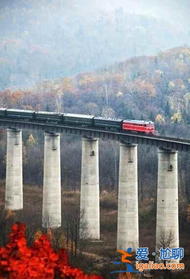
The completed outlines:
{"type": "Polygon", "coordinates": [[[94,115],[64,113],[63,123],[68,125],[93,126],[94,115]]]}

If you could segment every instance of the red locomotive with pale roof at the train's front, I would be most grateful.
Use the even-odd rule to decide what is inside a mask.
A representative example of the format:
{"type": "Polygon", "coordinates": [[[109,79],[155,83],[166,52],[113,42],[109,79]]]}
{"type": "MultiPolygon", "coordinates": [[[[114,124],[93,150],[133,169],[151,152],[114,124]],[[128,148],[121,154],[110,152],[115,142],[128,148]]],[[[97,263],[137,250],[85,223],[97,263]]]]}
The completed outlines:
{"type": "Polygon", "coordinates": [[[122,129],[146,134],[153,134],[155,132],[154,123],[152,121],[125,119],[122,122],[122,129]]]}

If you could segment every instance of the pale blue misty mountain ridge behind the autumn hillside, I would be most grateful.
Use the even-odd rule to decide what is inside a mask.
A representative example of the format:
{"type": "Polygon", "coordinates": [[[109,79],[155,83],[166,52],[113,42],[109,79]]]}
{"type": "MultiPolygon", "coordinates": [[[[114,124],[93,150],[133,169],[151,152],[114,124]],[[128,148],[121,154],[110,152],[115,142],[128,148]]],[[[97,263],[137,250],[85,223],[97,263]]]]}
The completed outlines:
{"type": "MultiPolygon", "coordinates": [[[[137,1],[130,2],[129,9],[126,2],[118,1],[117,6],[111,0],[103,4],[1,1],[0,90],[23,89],[44,79],[75,76],[133,56],[155,55],[189,44],[188,28],[175,24],[175,17],[173,23],[167,22],[160,16],[161,10],[156,18],[158,2],[154,2],[151,6],[144,1],[141,15],[142,3],[138,6],[137,1]],[[137,13],[132,13],[136,8],[137,13]]],[[[173,5],[178,7],[176,1],[173,5]]]]}

